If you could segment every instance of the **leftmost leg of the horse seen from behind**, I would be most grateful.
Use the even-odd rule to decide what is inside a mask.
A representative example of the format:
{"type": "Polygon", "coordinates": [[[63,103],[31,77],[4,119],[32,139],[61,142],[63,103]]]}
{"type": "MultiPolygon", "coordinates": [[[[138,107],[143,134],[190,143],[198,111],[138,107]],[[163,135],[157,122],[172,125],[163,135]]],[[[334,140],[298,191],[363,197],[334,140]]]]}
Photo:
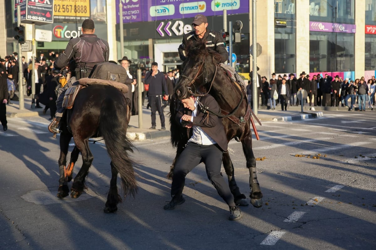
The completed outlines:
{"type": "Polygon", "coordinates": [[[71,134],[62,131],[60,134],[60,157],[59,157],[59,189],[57,196],[64,198],[69,195],[68,182],[66,180],[65,164],[67,163],[67,154],[71,134]]]}

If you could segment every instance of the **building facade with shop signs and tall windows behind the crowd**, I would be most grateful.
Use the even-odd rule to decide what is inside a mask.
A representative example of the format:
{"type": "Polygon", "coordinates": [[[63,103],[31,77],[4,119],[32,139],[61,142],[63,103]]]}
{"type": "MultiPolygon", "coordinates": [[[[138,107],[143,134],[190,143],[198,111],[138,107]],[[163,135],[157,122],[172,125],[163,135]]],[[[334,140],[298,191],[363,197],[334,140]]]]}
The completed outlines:
{"type": "MultiPolygon", "coordinates": [[[[5,13],[13,12],[15,1],[22,0],[1,0],[5,13]]],[[[161,65],[160,70],[167,71],[181,67],[177,48],[183,34],[193,29],[194,15],[206,15],[208,28],[221,31],[226,29],[226,10],[226,31],[229,21],[243,24],[241,39],[232,48],[237,71],[248,77],[252,68],[251,0],[54,0],[53,4],[54,23],[38,26],[51,30],[53,39],[37,42],[37,55],[41,51],[61,53],[70,37],[80,35],[82,20],[92,18],[96,34],[109,42],[110,60],[127,56],[133,69],[150,67],[155,61],[161,65]],[[124,55],[120,54],[120,3],[124,55]],[[67,6],[76,6],[76,12],[67,11],[67,6]]],[[[5,51],[0,49],[0,55],[11,54],[17,48],[13,39],[17,25],[5,13],[5,33],[0,32],[0,39],[6,47],[5,51]]],[[[376,0],[257,1],[256,20],[257,43],[262,48],[256,60],[259,74],[267,78],[272,72],[299,75],[302,71],[352,79],[375,75],[376,0]]],[[[26,26],[26,39],[31,40],[30,25],[26,26]]],[[[31,57],[30,52],[24,53],[31,57]]]]}

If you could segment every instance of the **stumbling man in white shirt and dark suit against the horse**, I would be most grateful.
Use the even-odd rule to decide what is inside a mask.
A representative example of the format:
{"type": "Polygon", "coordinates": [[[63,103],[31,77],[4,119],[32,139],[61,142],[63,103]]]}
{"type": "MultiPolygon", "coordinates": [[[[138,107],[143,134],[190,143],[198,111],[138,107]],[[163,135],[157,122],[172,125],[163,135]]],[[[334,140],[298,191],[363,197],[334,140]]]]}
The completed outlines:
{"type": "MultiPolygon", "coordinates": [[[[220,113],[218,102],[211,95],[200,97],[200,103],[214,113],[220,113]]],[[[230,210],[229,220],[241,218],[241,210],[235,205],[229,186],[221,176],[223,152],[227,152],[227,137],[221,119],[200,108],[197,98],[182,99],[184,109],[176,114],[176,122],[187,128],[188,140],[174,166],[171,184],[172,200],[164,206],[165,210],[176,208],[185,202],[182,195],[185,176],[201,162],[205,163],[206,174],[218,194],[230,210]],[[187,109],[188,108],[188,109],[187,109]]]]}

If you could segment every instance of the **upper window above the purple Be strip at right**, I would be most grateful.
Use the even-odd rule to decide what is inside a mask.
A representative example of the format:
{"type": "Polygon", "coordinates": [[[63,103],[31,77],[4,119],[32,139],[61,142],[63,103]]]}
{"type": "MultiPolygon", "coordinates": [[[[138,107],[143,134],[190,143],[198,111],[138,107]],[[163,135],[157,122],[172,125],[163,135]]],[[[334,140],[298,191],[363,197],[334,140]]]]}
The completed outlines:
{"type": "Polygon", "coordinates": [[[309,0],[309,20],[355,24],[355,0],[309,0]]]}

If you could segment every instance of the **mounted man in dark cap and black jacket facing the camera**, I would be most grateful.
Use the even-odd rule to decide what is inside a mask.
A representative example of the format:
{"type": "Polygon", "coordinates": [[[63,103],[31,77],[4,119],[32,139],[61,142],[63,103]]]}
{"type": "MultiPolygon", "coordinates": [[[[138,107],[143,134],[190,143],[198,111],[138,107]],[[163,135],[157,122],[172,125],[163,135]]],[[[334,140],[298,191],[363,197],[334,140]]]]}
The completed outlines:
{"type": "Polygon", "coordinates": [[[229,53],[227,52],[226,47],[224,47],[221,33],[214,30],[209,30],[208,19],[202,14],[198,14],[194,17],[192,25],[193,31],[186,33],[183,36],[182,44],[180,44],[178,48],[180,59],[185,61],[187,58],[184,49],[188,40],[203,40],[206,41],[207,49],[215,50],[221,55],[221,60],[217,63],[226,62],[229,59],[229,53]]]}

